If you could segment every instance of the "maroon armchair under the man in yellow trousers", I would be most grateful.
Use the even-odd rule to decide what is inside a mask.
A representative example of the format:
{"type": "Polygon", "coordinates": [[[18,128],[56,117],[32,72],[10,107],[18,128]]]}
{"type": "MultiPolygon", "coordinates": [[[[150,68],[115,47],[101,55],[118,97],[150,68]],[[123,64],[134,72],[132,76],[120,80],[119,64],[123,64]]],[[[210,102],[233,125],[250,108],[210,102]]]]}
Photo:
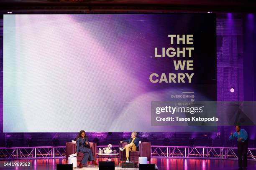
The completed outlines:
{"type": "MultiPolygon", "coordinates": [[[[123,142],[119,144],[120,148],[124,148],[127,145],[127,142],[123,142]]],[[[148,161],[151,159],[151,143],[150,142],[143,142],[139,144],[139,150],[135,152],[130,152],[129,154],[129,161],[131,162],[138,162],[139,157],[147,157],[148,161]]],[[[126,161],[125,150],[121,152],[119,150],[119,158],[121,161],[126,161]]]]}

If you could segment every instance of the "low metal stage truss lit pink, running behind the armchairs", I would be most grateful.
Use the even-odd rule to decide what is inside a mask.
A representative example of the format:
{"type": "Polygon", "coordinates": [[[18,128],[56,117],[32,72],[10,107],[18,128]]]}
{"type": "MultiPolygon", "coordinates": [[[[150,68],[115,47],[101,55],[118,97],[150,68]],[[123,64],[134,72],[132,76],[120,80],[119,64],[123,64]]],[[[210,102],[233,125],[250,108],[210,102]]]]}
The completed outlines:
{"type": "MultiPolygon", "coordinates": [[[[104,148],[106,146],[97,146],[104,148]]],[[[119,152],[119,146],[112,150],[119,152]]],[[[0,160],[65,158],[65,146],[0,148],[0,160]]],[[[238,159],[237,148],[203,146],[151,146],[152,158],[238,159]]],[[[256,161],[256,148],[248,148],[248,160],[256,161]]]]}

